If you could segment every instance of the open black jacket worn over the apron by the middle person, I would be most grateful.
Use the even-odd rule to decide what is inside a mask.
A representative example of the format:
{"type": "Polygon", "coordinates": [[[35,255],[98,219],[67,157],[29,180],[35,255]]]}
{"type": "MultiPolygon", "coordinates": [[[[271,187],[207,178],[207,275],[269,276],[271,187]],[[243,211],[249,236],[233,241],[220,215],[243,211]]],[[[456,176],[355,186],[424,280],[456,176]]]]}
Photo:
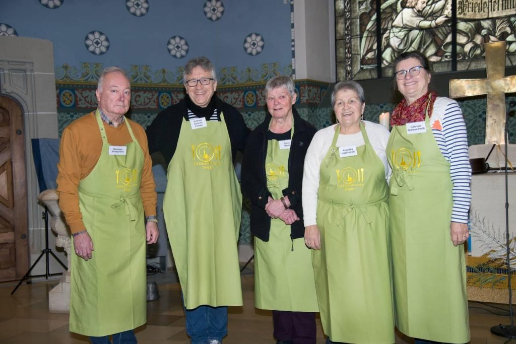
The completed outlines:
{"type": "MultiPolygon", "coordinates": [[[[304,156],[317,131],[310,123],[303,120],[296,109],[294,113],[294,134],[288,155],[288,186],[283,195],[288,196],[299,220],[291,225],[291,238],[304,236],[303,208],[301,206],[301,188],[303,184],[304,156]]],[[[263,241],[269,241],[270,217],[265,211],[269,196],[267,177],[265,175],[265,158],[267,157],[267,131],[271,116],[265,116],[262,124],[257,126],[247,142],[241,171],[242,192],[251,201],[251,233],[263,241]]]]}

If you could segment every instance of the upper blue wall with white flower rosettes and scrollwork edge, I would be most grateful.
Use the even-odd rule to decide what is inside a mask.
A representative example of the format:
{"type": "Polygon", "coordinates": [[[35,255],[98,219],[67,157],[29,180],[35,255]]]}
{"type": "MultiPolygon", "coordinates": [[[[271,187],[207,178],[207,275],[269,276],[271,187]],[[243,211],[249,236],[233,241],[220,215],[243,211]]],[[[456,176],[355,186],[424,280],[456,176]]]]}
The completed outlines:
{"type": "Polygon", "coordinates": [[[50,40],[57,80],[96,80],[118,65],[147,84],[178,84],[205,55],[220,84],[292,72],[293,4],[285,0],[2,0],[0,35],[50,40]],[[272,67],[274,66],[274,67],[272,67]]]}

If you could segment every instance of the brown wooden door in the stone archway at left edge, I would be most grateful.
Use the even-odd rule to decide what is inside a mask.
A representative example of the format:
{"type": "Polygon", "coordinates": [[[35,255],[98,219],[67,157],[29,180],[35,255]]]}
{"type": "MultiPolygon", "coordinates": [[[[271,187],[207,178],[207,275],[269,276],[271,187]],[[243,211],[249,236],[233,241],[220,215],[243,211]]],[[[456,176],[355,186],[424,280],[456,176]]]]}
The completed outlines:
{"type": "Polygon", "coordinates": [[[28,269],[27,188],[22,110],[0,96],[0,281],[28,269]]]}

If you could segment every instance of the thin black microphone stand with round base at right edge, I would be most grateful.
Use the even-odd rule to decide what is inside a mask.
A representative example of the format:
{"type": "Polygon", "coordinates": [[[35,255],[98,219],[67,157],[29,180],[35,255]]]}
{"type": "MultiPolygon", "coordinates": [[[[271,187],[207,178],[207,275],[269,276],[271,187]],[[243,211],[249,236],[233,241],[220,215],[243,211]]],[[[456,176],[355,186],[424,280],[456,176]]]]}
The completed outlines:
{"type": "Polygon", "coordinates": [[[509,186],[508,186],[508,167],[507,162],[509,160],[508,155],[508,146],[509,146],[509,116],[505,119],[505,130],[504,130],[504,140],[505,140],[505,239],[507,244],[507,284],[509,286],[509,315],[510,315],[510,324],[502,325],[499,324],[497,326],[491,327],[491,333],[502,336],[506,338],[516,338],[516,326],[514,326],[514,317],[512,313],[512,286],[511,286],[511,257],[509,251],[509,186]]]}

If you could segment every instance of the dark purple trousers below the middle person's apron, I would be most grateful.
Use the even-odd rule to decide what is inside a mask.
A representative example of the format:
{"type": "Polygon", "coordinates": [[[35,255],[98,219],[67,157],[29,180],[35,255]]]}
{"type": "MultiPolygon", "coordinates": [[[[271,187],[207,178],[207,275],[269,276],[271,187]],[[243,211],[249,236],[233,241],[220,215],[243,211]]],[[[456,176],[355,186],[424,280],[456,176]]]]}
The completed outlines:
{"type": "Polygon", "coordinates": [[[315,313],[272,311],[274,337],[293,344],[315,344],[315,313]]]}

